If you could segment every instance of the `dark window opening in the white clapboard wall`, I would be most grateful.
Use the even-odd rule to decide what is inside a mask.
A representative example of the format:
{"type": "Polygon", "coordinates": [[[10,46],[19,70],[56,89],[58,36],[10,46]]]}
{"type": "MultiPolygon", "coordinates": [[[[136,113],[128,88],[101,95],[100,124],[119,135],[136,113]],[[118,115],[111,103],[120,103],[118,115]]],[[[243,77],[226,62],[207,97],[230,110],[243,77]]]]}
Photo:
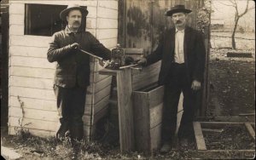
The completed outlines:
{"type": "Polygon", "coordinates": [[[25,35],[52,36],[61,31],[61,10],[67,5],[26,4],[25,5],[25,35]]]}

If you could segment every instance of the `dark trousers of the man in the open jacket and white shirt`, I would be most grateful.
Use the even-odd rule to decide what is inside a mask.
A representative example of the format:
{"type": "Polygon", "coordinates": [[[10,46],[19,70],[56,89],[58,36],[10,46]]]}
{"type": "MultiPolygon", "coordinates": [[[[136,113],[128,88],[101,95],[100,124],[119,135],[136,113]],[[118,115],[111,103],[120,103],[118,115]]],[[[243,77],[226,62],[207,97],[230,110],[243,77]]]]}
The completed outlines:
{"type": "Polygon", "coordinates": [[[191,89],[184,64],[172,64],[172,71],[165,83],[162,117],[162,141],[172,142],[177,128],[177,106],[183,92],[183,116],[177,136],[179,139],[193,135],[196,92],[191,89]]]}

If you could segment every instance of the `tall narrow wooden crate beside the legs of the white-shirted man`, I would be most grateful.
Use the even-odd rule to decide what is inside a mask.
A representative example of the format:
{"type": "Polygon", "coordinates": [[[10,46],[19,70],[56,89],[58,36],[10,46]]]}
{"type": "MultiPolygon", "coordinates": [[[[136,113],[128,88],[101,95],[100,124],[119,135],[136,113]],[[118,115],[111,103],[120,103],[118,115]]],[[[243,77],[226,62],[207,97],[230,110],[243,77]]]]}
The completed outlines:
{"type": "Polygon", "coordinates": [[[137,151],[160,147],[164,87],[133,91],[134,128],[137,151]]]}

